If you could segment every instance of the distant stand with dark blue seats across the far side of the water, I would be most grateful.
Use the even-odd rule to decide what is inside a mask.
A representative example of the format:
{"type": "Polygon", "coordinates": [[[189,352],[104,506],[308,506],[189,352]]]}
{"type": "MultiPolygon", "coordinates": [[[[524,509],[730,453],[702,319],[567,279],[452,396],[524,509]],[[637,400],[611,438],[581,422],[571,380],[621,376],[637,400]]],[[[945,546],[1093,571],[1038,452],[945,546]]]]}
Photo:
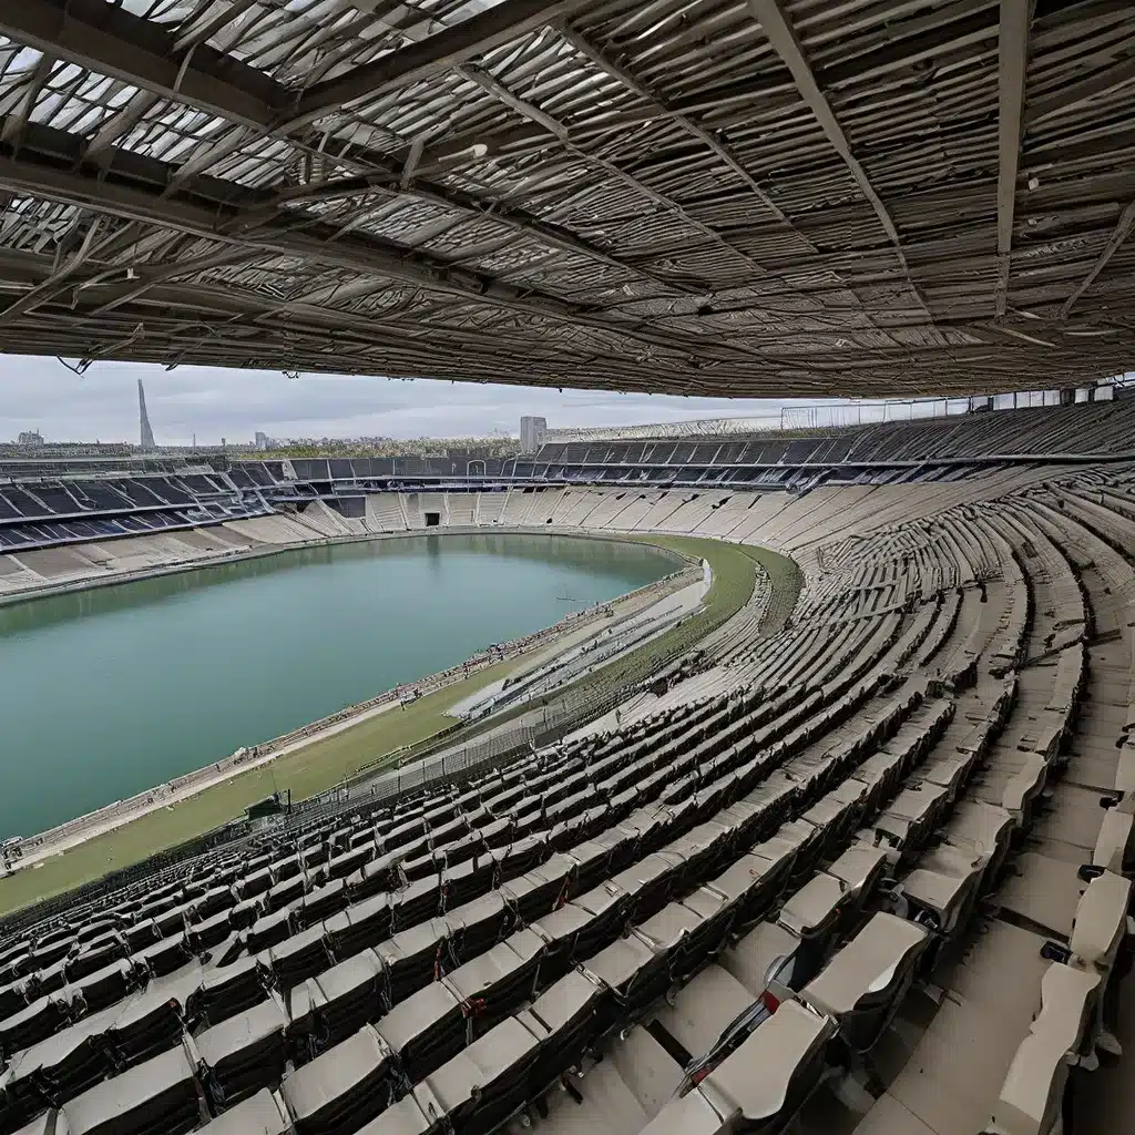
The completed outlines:
{"type": "MultiPolygon", "coordinates": [[[[746,539],[767,512],[785,507],[785,490],[809,493],[816,504],[817,490],[833,499],[839,486],[941,484],[1034,465],[1115,461],[1135,456],[1133,436],[1135,398],[1125,392],[1105,403],[846,427],[808,436],[553,443],[527,461],[478,459],[473,463],[485,472],[476,477],[462,468],[461,454],[239,461],[225,471],[203,472],[171,463],[168,472],[135,476],[19,479],[9,471],[9,479],[0,479],[0,550],[72,545],[83,556],[92,541],[217,526],[245,549],[263,543],[493,523],[663,528],[746,539]],[[611,498],[598,491],[604,485],[639,491],[611,498]],[[676,499],[674,489],[682,487],[697,489],[698,496],[676,499]],[[376,496],[392,489],[404,495],[397,502],[376,496]],[[754,489],[764,493],[763,503],[735,495],[754,489]],[[714,497],[714,491],[721,495],[714,497]],[[311,507],[320,502],[326,507],[311,507]],[[280,512],[287,522],[272,519],[280,512]],[[262,522],[229,527],[253,518],[262,522]]],[[[82,565],[77,571],[83,573],[82,565]]]]}

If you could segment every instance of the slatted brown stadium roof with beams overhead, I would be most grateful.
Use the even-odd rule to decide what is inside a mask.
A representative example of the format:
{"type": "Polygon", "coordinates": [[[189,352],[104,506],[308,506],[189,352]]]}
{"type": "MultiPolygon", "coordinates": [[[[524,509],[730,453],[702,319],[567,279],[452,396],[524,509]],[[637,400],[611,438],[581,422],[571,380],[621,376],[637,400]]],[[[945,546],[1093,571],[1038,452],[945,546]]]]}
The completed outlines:
{"type": "Polygon", "coordinates": [[[0,350],[700,395],[1135,369],[1129,0],[14,0],[0,350]]]}

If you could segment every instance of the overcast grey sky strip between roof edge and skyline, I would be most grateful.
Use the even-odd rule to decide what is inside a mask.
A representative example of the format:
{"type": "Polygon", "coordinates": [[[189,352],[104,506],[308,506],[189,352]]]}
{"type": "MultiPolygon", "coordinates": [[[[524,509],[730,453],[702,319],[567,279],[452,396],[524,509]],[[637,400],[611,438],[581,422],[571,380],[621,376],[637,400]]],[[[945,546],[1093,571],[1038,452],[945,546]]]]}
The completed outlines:
{"type": "MultiPolygon", "coordinates": [[[[767,400],[679,398],[594,390],[96,362],[79,377],[57,359],[0,355],[0,440],[138,440],[137,380],[159,445],[270,437],[470,437],[518,434],[522,414],[550,427],[630,426],[774,414],[767,400]]],[[[785,402],[785,404],[789,404],[785,402]]]]}

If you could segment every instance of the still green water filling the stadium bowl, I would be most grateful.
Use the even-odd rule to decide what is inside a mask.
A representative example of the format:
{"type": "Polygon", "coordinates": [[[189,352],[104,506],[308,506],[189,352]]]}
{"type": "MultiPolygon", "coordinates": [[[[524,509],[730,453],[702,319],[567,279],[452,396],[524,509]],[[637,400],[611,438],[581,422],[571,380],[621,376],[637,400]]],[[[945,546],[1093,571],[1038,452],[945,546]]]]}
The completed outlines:
{"type": "Polygon", "coordinates": [[[0,838],[32,835],[674,570],[657,548],[421,536],[0,608],[0,838]]]}

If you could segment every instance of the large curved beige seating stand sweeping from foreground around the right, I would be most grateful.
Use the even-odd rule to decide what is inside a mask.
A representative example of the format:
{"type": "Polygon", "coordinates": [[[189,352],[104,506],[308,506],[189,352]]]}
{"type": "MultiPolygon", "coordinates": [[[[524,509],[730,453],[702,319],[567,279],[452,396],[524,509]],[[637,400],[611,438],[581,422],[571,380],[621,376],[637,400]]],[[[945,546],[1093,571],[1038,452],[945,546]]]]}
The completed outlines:
{"type": "MultiPolygon", "coordinates": [[[[1090,420],[1052,438],[1121,459],[1090,420]]],[[[1004,448],[939,429],[888,452],[1004,448]]],[[[1124,1129],[1092,1108],[1133,949],[1135,463],[385,493],[361,523],[431,514],[764,545],[804,589],[762,582],[617,724],[9,919],[0,1132],[1124,1129]]]]}

